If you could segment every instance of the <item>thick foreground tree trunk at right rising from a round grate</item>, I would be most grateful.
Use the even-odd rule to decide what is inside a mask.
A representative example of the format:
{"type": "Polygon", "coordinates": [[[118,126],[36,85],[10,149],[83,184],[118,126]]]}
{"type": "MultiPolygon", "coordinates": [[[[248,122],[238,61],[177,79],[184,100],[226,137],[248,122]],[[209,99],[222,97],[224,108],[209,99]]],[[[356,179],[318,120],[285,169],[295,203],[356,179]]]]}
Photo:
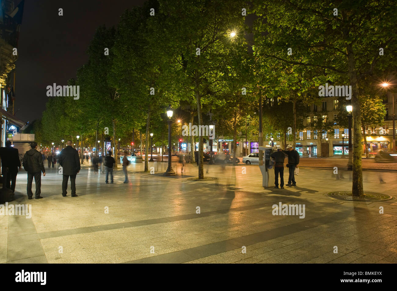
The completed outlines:
{"type": "MultiPolygon", "coordinates": [[[[348,31],[344,31],[345,40],[348,41],[348,31]]],[[[349,68],[349,79],[352,88],[351,105],[353,107],[353,196],[360,197],[364,195],[362,185],[362,161],[361,161],[361,114],[360,101],[358,100],[359,89],[357,82],[357,70],[355,66],[355,56],[353,45],[346,44],[347,63],[349,68]]]]}

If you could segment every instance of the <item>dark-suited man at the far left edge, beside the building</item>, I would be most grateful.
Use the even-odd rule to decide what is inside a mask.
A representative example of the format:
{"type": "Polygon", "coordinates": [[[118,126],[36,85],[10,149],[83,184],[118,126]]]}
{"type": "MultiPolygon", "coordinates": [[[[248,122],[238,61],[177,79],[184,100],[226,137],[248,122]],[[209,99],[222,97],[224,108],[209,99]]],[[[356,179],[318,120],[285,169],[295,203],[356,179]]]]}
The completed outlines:
{"type": "Polygon", "coordinates": [[[15,181],[17,180],[18,169],[21,168],[19,152],[17,148],[11,146],[11,141],[6,141],[6,147],[0,148],[1,165],[3,176],[6,175],[6,186],[15,192],[15,181]],[[11,182],[11,183],[10,183],[11,182]]]}

